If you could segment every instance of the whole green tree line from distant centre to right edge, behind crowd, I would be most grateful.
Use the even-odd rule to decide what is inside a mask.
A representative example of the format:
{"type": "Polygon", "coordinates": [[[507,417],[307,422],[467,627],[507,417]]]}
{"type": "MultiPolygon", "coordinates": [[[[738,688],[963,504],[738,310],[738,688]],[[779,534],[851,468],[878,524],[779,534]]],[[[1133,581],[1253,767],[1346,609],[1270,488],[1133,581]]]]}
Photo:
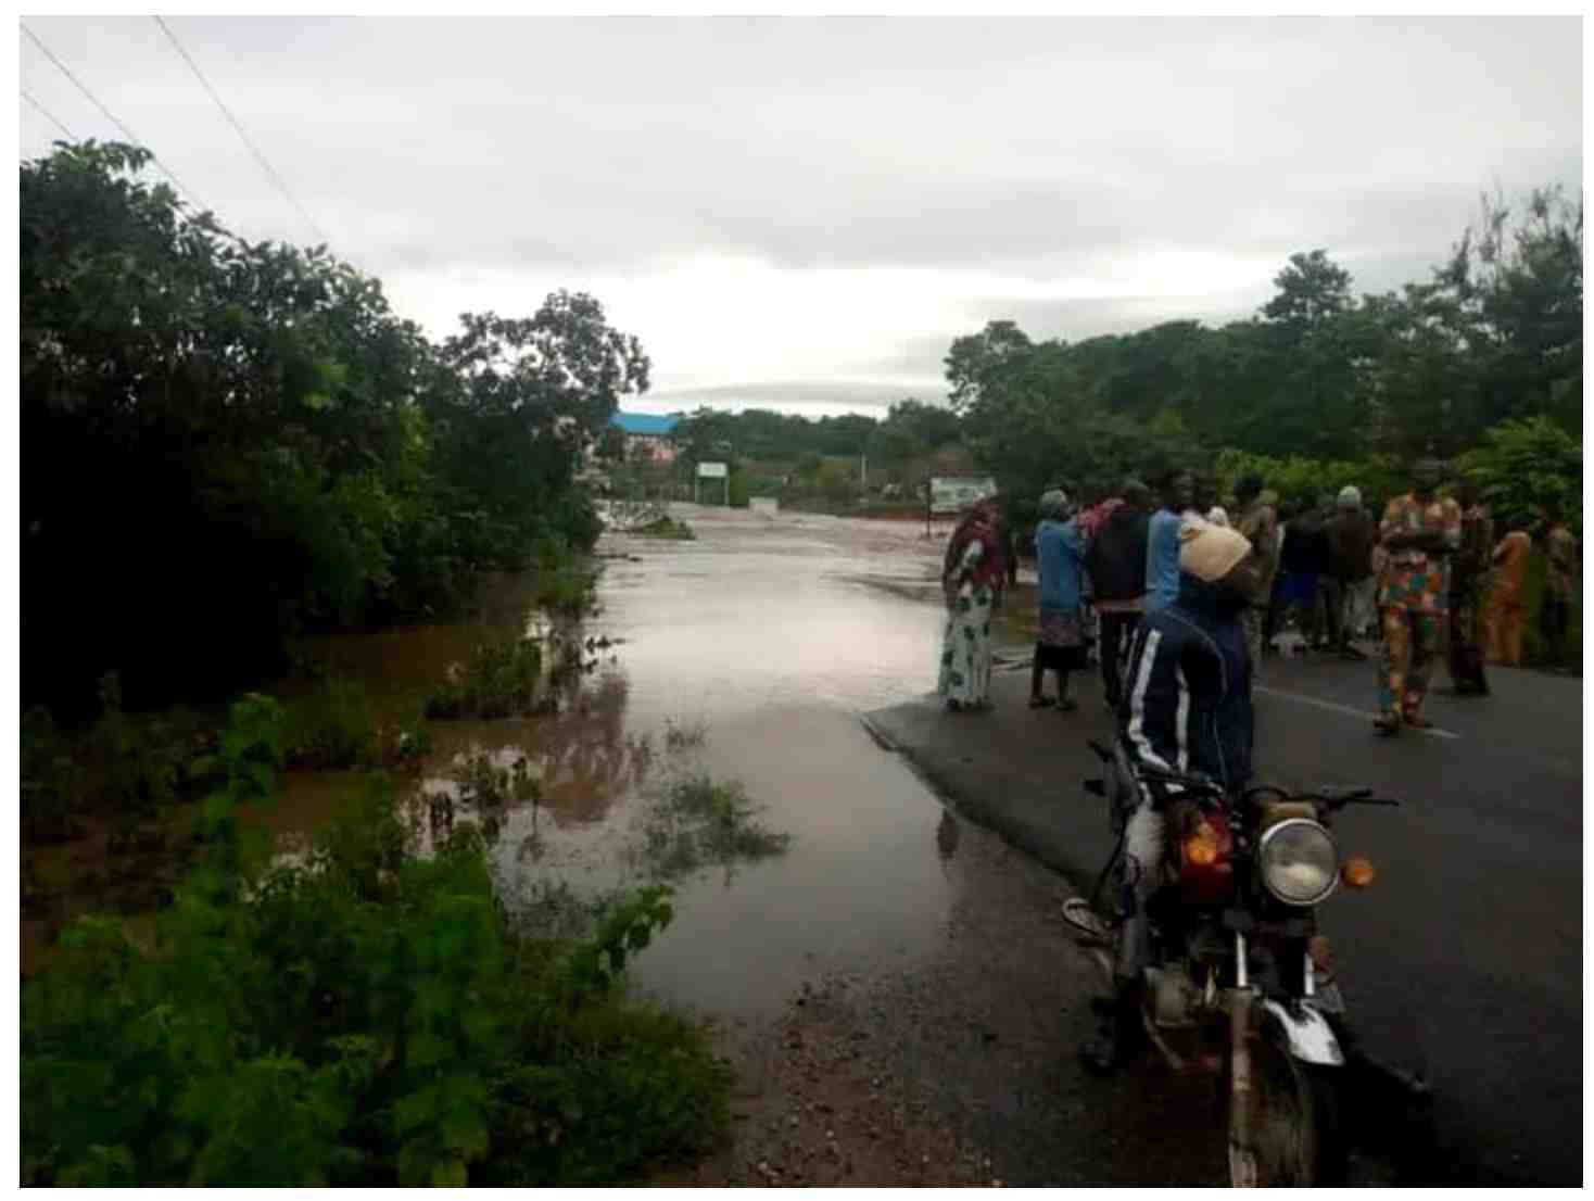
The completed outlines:
{"type": "Polygon", "coordinates": [[[1213,501],[1261,471],[1286,507],[1331,485],[1406,486],[1430,447],[1500,512],[1562,501],[1581,528],[1583,206],[1554,188],[1486,198],[1427,282],[1356,297],[1325,250],[1294,254],[1254,317],[1168,321],[1081,341],[991,321],[953,340],[950,408],[883,421],[700,410],[677,471],[728,459],[732,496],[864,512],[917,501],[932,474],[990,472],[1009,517],[1062,480],[1090,496],[1127,475],[1192,471],[1213,501]],[[869,461],[867,498],[861,458],[869,461]]]}

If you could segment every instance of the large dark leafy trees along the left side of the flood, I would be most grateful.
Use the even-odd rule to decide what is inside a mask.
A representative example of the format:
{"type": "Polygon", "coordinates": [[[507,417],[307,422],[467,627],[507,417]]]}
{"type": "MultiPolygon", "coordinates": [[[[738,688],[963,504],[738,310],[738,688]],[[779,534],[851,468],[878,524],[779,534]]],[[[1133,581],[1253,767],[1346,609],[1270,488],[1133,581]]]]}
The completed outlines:
{"type": "Polygon", "coordinates": [[[223,697],[292,635],[435,614],[485,569],[591,545],[575,472],[649,373],[596,300],[434,345],[378,281],[234,238],[148,161],[21,164],[26,703],[88,719],[105,671],[129,710],[223,697]]]}

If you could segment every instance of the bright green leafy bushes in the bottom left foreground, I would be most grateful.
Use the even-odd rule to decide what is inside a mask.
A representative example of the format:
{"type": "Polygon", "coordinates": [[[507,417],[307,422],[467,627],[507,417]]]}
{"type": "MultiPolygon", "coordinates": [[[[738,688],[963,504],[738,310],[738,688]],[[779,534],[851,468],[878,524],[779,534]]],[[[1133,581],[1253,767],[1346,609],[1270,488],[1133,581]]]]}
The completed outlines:
{"type": "Polygon", "coordinates": [[[265,868],[236,807],[276,793],[281,726],[233,707],[155,952],[88,919],[24,987],[24,1183],[614,1183],[717,1136],[703,1032],[614,989],[666,888],[532,946],[480,841],[414,858],[379,778],[308,863],[265,868]]]}

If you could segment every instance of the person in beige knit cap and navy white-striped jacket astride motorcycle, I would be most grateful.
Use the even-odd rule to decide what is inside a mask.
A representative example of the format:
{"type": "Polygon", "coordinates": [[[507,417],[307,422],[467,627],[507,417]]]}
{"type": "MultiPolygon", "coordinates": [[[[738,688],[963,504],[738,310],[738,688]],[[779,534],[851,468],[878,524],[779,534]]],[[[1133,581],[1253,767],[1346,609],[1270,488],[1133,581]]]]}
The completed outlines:
{"type": "MultiPolygon", "coordinates": [[[[1237,531],[1210,522],[1180,530],[1180,592],[1149,612],[1135,635],[1119,715],[1119,743],[1130,769],[1202,772],[1227,791],[1251,777],[1251,657],[1240,612],[1256,595],[1266,557],[1237,531]]],[[[1113,1000],[1097,1038],[1081,1048],[1086,1067],[1111,1072],[1137,1022],[1146,967],[1146,901],[1162,879],[1162,809],[1176,785],[1141,786],[1124,834],[1124,872],[1135,912],[1124,923],[1113,1000]]]]}

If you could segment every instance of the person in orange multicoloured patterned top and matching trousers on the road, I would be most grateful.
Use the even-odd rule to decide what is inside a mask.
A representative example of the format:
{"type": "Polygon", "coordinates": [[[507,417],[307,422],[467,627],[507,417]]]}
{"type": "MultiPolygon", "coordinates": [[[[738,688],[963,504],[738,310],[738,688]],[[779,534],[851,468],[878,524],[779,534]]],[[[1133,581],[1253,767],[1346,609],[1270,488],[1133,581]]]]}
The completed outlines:
{"type": "Polygon", "coordinates": [[[1379,716],[1372,719],[1379,734],[1433,724],[1422,716],[1422,702],[1449,612],[1449,557],[1462,545],[1462,507],[1438,496],[1443,477],[1438,459],[1422,459],[1412,471],[1412,490],[1392,499],[1379,523],[1384,652],[1379,716]]]}

